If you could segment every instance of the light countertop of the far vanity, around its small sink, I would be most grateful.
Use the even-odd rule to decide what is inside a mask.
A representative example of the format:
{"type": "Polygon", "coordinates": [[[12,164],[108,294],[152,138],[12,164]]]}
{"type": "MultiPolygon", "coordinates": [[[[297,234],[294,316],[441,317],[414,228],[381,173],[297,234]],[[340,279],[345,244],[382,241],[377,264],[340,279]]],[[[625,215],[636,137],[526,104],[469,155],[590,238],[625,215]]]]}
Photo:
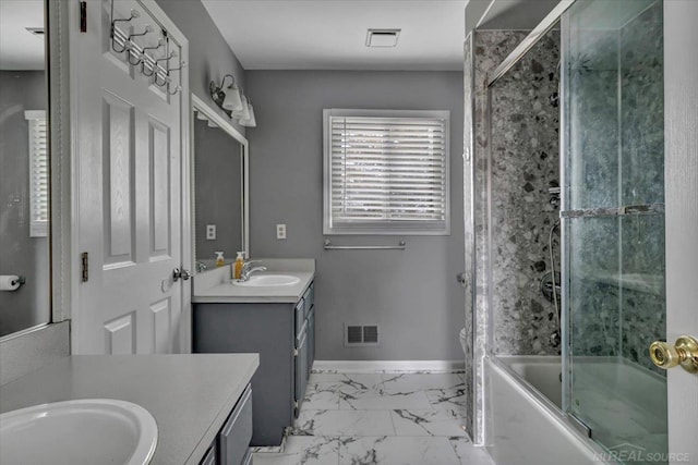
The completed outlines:
{"type": "Polygon", "coordinates": [[[261,266],[267,267],[266,273],[288,274],[299,278],[300,281],[292,285],[240,286],[231,283],[228,265],[194,277],[192,302],[194,304],[294,304],[300,301],[315,277],[315,260],[312,259],[262,259],[261,261],[261,266]]]}

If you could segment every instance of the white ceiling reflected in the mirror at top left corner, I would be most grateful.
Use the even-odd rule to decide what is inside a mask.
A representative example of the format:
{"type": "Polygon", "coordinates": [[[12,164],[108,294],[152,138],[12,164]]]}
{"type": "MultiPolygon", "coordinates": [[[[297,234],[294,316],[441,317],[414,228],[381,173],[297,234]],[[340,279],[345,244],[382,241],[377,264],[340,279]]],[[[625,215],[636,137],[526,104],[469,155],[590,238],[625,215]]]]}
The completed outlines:
{"type": "Polygon", "coordinates": [[[0,0],[0,70],[44,69],[44,36],[26,27],[44,27],[44,1],[0,0]]]}

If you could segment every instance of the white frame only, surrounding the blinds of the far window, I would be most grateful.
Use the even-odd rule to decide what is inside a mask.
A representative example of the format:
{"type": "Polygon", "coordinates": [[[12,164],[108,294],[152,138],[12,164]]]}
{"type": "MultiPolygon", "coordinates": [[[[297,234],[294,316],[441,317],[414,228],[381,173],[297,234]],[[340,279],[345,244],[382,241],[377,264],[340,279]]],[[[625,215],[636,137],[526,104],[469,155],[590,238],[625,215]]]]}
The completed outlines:
{"type": "Polygon", "coordinates": [[[448,110],[323,110],[323,234],[324,235],[450,235],[450,111],[448,110]],[[420,223],[409,220],[357,221],[356,225],[336,225],[332,218],[332,117],[414,118],[444,120],[444,221],[420,223]]]}

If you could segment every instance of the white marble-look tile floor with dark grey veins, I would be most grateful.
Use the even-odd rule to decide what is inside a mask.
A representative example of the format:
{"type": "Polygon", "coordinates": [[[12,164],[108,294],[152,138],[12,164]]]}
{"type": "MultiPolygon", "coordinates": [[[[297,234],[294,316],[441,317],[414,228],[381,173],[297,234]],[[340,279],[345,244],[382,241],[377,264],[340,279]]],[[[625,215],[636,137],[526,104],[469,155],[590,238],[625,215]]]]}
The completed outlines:
{"type": "Polygon", "coordinates": [[[312,374],[282,452],[253,465],[494,465],[466,436],[462,374],[312,374]]]}

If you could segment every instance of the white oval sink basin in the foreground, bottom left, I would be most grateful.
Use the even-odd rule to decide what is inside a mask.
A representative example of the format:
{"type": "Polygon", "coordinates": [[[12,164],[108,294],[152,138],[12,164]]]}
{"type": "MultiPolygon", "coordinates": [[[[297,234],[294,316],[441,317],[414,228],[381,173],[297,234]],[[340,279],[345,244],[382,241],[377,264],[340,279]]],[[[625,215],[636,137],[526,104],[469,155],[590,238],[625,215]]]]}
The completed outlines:
{"type": "Polygon", "coordinates": [[[55,402],[0,415],[0,444],[8,465],[143,465],[155,452],[157,424],[131,402],[55,402]]]}

